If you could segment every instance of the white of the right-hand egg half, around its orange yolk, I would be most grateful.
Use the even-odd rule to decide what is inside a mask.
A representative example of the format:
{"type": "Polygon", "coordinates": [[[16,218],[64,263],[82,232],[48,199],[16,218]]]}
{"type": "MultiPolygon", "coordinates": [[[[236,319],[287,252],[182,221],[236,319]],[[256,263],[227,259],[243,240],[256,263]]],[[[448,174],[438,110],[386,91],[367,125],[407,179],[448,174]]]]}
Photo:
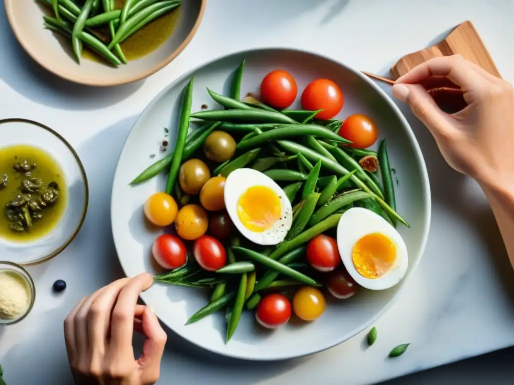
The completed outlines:
{"type": "Polygon", "coordinates": [[[348,274],[359,285],[370,290],[390,288],[396,285],[407,272],[409,259],[405,242],[388,221],[368,209],[353,207],[342,215],[337,225],[337,246],[348,274]],[[383,234],[396,246],[396,257],[391,268],[381,277],[373,279],[361,276],[352,259],[355,243],[365,235],[372,233],[383,234]]]}

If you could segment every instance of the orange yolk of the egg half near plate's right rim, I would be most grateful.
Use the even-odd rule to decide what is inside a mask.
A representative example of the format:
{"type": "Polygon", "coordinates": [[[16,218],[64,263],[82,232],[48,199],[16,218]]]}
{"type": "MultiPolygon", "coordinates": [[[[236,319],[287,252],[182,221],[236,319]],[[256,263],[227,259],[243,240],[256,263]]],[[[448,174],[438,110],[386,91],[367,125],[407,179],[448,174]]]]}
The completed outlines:
{"type": "Polygon", "coordinates": [[[396,258],[396,246],[391,239],[380,233],[365,235],[352,251],[357,272],[365,278],[378,278],[386,274],[396,258]]]}

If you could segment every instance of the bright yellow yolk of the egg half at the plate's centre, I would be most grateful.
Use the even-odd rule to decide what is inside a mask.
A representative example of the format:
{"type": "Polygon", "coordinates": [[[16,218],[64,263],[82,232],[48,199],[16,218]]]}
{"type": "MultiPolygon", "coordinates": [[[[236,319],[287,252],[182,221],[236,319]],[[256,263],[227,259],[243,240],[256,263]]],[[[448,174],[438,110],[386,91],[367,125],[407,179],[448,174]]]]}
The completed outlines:
{"type": "Polygon", "coordinates": [[[243,225],[262,233],[280,219],[282,209],[276,192],[266,186],[248,188],[237,201],[237,216],[243,225]]]}

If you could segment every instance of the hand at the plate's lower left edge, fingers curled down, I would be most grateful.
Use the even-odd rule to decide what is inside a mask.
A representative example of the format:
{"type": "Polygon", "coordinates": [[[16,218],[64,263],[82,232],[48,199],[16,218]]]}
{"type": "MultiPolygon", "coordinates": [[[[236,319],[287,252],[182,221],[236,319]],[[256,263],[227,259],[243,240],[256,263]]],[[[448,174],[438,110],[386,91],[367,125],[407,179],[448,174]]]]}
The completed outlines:
{"type": "Polygon", "coordinates": [[[80,385],[149,385],[157,382],[167,335],[149,306],[137,305],[153,278],[119,279],[84,297],[64,320],[66,351],[80,385]],[[135,359],[133,331],[146,336],[135,359]]]}

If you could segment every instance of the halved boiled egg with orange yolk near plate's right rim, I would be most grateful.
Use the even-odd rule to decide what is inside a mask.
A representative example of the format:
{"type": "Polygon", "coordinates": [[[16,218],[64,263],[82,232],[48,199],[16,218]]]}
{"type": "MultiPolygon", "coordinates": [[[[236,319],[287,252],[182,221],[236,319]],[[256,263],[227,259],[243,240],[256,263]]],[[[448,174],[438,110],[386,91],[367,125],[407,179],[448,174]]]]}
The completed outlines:
{"type": "Polygon", "coordinates": [[[337,246],[344,267],[359,285],[384,290],[407,272],[407,246],[385,219],[365,208],[347,210],[337,225],[337,246]]]}

